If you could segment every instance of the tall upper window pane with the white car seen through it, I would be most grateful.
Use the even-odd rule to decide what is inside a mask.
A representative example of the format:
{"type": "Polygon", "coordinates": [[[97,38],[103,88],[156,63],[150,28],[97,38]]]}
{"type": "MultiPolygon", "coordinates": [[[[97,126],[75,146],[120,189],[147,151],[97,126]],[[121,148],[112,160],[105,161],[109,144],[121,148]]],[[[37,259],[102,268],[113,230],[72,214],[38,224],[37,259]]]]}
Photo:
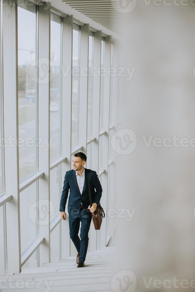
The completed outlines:
{"type": "Polygon", "coordinates": [[[61,18],[51,14],[50,162],[61,157],[61,18]]]}

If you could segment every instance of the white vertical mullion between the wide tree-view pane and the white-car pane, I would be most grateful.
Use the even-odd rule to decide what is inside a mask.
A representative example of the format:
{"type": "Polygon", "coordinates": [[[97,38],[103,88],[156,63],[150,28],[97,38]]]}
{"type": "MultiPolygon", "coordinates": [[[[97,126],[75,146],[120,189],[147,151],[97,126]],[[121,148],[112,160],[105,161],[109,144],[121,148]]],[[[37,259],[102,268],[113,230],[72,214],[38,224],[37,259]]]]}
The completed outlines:
{"type": "MultiPolygon", "coordinates": [[[[50,17],[50,3],[39,6],[38,72],[41,72],[42,61],[50,69],[50,17]]],[[[38,136],[44,137],[50,144],[50,70],[44,79],[41,77],[38,84],[38,136]]],[[[50,153],[46,147],[44,141],[38,147],[38,169],[44,172],[44,179],[38,182],[39,210],[44,205],[48,212],[47,224],[39,224],[39,236],[45,238],[39,247],[40,265],[50,262],[50,153]]]]}

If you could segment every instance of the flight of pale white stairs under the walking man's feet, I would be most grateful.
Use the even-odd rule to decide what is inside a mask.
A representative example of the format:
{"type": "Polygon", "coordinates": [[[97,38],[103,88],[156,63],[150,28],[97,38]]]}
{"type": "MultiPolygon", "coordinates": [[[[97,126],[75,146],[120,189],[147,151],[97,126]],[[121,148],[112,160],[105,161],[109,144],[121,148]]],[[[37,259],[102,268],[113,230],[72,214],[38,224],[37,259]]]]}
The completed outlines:
{"type": "MultiPolygon", "coordinates": [[[[39,283],[39,288],[27,289],[24,285],[23,289],[15,288],[14,292],[35,292],[38,289],[49,292],[113,292],[111,279],[117,272],[115,254],[115,247],[88,252],[82,269],[77,268],[76,255],[55,263],[44,263],[42,267],[24,268],[21,274],[13,275],[13,279],[32,279],[35,286],[39,283]]],[[[3,291],[13,292],[13,289],[3,291]]]]}

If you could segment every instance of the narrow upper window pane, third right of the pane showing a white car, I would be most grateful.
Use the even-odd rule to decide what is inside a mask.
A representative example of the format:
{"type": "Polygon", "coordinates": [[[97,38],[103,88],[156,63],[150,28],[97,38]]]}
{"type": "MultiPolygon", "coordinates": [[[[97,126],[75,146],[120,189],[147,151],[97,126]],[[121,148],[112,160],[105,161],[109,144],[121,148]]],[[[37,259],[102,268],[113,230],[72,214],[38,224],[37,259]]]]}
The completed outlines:
{"type": "MultiPolygon", "coordinates": [[[[102,38],[101,41],[101,71],[104,72],[104,45],[105,38],[102,38]]],[[[101,72],[100,71],[100,72],[101,72]]],[[[103,88],[104,88],[104,76],[100,74],[100,131],[103,130],[103,88]]]]}

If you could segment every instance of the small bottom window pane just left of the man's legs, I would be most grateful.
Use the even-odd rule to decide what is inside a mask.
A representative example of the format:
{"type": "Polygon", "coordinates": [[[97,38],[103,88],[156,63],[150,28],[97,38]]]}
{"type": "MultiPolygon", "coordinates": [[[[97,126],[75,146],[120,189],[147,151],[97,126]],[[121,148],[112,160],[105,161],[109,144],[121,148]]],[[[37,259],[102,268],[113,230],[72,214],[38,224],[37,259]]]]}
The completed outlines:
{"type": "Polygon", "coordinates": [[[60,260],[60,251],[61,251],[61,222],[54,228],[51,232],[51,263],[56,263],[57,260],[60,260]]]}

